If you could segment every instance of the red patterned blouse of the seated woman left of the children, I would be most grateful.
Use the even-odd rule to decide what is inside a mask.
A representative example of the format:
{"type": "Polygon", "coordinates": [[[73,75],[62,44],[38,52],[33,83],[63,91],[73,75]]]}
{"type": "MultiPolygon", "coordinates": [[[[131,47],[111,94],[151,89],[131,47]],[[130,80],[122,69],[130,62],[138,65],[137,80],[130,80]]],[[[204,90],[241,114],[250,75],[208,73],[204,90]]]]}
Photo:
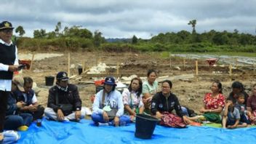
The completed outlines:
{"type": "Polygon", "coordinates": [[[225,105],[225,97],[222,94],[219,94],[217,98],[212,97],[212,93],[207,93],[204,96],[204,104],[206,109],[216,109],[219,106],[224,107],[225,105]]]}

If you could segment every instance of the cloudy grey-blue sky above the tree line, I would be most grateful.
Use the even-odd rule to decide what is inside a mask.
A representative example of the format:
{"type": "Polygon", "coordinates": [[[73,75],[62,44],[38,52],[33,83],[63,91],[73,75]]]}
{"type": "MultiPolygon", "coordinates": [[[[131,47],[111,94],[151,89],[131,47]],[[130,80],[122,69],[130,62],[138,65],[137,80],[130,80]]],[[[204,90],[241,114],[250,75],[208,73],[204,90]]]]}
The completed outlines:
{"type": "Polygon", "coordinates": [[[158,33],[233,31],[256,34],[256,0],[0,0],[0,20],[33,31],[81,25],[106,38],[149,39],[158,33]]]}

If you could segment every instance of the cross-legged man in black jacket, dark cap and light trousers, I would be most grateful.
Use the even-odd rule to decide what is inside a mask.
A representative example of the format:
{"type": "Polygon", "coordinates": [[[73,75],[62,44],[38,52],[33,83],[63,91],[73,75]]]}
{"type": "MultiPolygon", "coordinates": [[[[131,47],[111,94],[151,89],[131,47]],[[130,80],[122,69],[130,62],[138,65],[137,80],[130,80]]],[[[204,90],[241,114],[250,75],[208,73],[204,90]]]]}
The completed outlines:
{"type": "Polygon", "coordinates": [[[84,119],[86,108],[81,108],[81,99],[76,85],[68,84],[68,74],[57,73],[56,85],[49,89],[44,115],[55,121],[79,121],[84,119]]]}

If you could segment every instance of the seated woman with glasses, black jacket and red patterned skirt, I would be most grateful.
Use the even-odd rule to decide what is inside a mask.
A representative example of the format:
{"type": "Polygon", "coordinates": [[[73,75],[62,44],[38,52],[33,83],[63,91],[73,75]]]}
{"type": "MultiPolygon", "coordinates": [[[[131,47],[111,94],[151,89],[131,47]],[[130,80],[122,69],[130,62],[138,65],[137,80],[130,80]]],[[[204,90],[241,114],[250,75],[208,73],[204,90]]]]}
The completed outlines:
{"type": "Polygon", "coordinates": [[[151,102],[151,113],[156,118],[161,119],[160,124],[169,127],[185,127],[190,124],[190,120],[182,112],[179,100],[172,94],[172,81],[165,80],[161,84],[161,92],[153,96],[151,102]],[[177,115],[172,113],[176,111],[177,115]]]}

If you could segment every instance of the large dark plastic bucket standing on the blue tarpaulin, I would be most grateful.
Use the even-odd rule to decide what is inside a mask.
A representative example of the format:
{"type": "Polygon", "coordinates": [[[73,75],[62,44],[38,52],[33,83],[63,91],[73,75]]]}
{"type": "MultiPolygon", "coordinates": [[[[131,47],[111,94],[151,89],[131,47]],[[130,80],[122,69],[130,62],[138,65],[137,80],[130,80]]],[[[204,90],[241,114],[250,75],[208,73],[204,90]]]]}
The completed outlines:
{"type": "Polygon", "coordinates": [[[137,114],[135,123],[135,137],[150,139],[158,121],[159,119],[156,119],[153,116],[137,114]]]}

